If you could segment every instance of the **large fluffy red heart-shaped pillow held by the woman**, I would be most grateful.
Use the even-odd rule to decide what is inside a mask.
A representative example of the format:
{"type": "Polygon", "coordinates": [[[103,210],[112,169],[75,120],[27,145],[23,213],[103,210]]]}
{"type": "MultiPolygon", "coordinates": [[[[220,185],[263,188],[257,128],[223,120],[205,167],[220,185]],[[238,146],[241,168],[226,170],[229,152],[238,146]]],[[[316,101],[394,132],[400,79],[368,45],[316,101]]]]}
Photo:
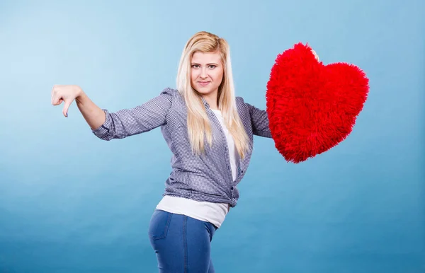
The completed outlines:
{"type": "Polygon", "coordinates": [[[300,163],[328,151],[351,133],[369,92],[357,66],[324,65],[308,45],[278,54],[267,83],[266,110],[276,149],[300,163]]]}

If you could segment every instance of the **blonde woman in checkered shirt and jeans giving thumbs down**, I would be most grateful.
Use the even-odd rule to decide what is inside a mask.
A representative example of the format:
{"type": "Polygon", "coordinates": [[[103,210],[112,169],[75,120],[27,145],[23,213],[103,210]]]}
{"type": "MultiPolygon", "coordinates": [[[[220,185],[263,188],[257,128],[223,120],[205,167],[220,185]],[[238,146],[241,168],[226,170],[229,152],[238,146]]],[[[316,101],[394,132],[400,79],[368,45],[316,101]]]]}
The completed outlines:
{"type": "Polygon", "coordinates": [[[251,158],[253,135],[271,138],[268,116],[234,95],[227,42],[207,32],[188,40],[177,89],[118,112],[98,108],[79,86],[54,86],[52,104],[73,100],[100,139],[122,139],[161,127],[172,172],[154,210],[149,239],[159,272],[214,272],[212,236],[230,207],[251,158]]]}

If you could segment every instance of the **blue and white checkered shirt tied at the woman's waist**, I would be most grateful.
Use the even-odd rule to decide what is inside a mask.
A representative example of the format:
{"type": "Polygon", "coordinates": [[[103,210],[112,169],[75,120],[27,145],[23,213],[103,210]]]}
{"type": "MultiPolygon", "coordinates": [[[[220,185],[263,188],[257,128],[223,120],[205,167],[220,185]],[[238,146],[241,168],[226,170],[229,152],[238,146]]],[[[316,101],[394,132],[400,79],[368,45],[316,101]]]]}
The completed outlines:
{"type": "MultiPolygon", "coordinates": [[[[251,152],[243,160],[237,158],[237,178],[233,180],[226,136],[220,122],[203,99],[210,117],[212,146],[205,140],[205,154],[192,153],[186,125],[186,103],[179,91],[165,88],[157,97],[135,108],[106,113],[106,121],[92,130],[103,140],[123,139],[161,127],[166,143],[171,149],[172,171],[165,182],[164,195],[186,197],[197,201],[227,203],[234,207],[239,199],[238,183],[242,180],[251,159],[251,152]]],[[[253,105],[236,98],[237,111],[249,136],[252,149],[253,136],[271,138],[268,115],[253,105]]]]}

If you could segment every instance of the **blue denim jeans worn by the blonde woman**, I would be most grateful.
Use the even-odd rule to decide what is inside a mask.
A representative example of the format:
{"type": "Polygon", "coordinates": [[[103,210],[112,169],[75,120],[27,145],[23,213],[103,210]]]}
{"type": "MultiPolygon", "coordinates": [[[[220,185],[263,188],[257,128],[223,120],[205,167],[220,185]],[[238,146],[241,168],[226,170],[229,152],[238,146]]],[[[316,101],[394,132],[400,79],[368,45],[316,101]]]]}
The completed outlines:
{"type": "Polygon", "coordinates": [[[148,234],[159,272],[214,273],[211,240],[216,230],[212,223],[155,209],[148,234]]]}

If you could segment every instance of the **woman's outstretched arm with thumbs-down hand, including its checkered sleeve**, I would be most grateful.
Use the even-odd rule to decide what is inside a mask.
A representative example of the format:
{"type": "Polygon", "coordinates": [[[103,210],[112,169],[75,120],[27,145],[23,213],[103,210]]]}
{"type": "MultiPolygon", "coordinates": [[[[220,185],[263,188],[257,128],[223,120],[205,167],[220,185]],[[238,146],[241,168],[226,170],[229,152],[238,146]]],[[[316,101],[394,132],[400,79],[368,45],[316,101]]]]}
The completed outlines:
{"type": "Polygon", "coordinates": [[[76,100],[92,132],[100,139],[111,140],[147,132],[165,124],[166,115],[171,108],[171,96],[171,91],[166,88],[161,95],[142,105],[111,113],[98,108],[79,86],[54,86],[52,105],[60,105],[63,101],[62,112],[67,117],[69,105],[76,100]]]}

